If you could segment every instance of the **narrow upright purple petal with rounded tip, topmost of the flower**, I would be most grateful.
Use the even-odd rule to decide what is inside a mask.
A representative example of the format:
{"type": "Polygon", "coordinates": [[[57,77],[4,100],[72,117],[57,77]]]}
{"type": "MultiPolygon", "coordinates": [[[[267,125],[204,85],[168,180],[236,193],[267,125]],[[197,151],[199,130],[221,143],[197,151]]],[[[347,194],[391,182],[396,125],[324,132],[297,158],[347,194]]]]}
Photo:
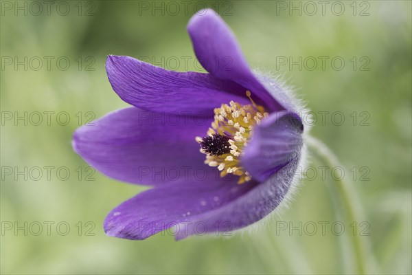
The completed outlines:
{"type": "MultiPolygon", "coordinates": [[[[285,108],[253,75],[235,36],[214,10],[197,12],[187,25],[198,61],[210,74],[249,89],[269,111],[285,108]]],[[[236,100],[235,100],[236,101],[236,100]]]]}

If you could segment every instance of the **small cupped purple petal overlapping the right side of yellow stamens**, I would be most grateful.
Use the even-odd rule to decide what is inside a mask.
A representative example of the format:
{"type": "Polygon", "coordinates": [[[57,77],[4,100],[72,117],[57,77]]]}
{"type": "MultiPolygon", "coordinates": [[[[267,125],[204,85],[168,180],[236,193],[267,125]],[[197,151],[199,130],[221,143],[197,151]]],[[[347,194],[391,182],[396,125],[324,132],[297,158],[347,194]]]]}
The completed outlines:
{"type": "Polygon", "coordinates": [[[255,127],[244,148],[242,166],[258,181],[265,181],[301,153],[303,124],[296,113],[272,113],[255,127]]]}

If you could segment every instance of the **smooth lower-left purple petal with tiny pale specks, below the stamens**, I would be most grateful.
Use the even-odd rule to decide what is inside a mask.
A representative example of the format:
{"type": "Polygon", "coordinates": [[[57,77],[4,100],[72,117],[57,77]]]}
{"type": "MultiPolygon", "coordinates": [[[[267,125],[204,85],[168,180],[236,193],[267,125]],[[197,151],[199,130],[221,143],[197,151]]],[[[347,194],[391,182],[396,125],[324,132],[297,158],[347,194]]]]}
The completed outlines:
{"type": "MultiPolygon", "coordinates": [[[[192,223],[196,217],[230,204],[255,186],[253,181],[238,185],[238,177],[232,175],[217,180],[216,175],[208,173],[207,181],[174,182],[141,192],[108,214],[106,234],[141,240],[174,225],[179,228],[174,234],[185,234],[190,226],[205,231],[192,223]]],[[[212,225],[208,231],[213,231],[212,225]]]]}

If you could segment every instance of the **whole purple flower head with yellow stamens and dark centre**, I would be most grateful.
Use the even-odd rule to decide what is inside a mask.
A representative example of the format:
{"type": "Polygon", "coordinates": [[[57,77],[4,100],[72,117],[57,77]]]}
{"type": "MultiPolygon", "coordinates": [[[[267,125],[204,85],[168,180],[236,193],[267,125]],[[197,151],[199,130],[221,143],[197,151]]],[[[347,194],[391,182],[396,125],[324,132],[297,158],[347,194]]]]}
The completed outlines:
{"type": "Polygon", "coordinates": [[[176,239],[260,221],[284,201],[301,160],[293,100],[249,68],[213,10],[187,25],[209,72],[171,72],[108,56],[108,79],[133,107],[82,126],[73,148],[101,173],[154,186],[113,209],[109,236],[146,239],[176,225],[176,239]]]}

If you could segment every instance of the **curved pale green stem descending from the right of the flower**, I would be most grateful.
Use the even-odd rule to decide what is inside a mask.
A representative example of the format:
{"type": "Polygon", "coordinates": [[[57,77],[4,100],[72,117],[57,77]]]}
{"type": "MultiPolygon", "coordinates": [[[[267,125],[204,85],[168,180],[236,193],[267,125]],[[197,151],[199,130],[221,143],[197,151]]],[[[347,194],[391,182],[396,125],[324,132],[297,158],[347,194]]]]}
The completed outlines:
{"type": "MultiPolygon", "coordinates": [[[[306,144],[312,148],[314,153],[319,155],[323,159],[323,161],[328,164],[330,167],[342,167],[339,159],[332,153],[330,148],[323,144],[320,140],[317,140],[314,137],[308,136],[306,138],[306,144]]],[[[350,181],[343,181],[342,179],[335,179],[336,186],[338,190],[338,195],[341,197],[341,201],[343,203],[343,208],[346,212],[347,221],[352,223],[353,221],[361,221],[361,217],[363,217],[363,211],[360,207],[360,203],[358,200],[358,196],[356,192],[354,192],[354,188],[352,186],[352,182],[350,181]]],[[[354,250],[354,255],[356,259],[356,273],[357,274],[366,274],[367,272],[367,256],[366,256],[366,246],[363,242],[362,236],[359,234],[351,234],[352,238],[352,247],[354,250]]]]}

